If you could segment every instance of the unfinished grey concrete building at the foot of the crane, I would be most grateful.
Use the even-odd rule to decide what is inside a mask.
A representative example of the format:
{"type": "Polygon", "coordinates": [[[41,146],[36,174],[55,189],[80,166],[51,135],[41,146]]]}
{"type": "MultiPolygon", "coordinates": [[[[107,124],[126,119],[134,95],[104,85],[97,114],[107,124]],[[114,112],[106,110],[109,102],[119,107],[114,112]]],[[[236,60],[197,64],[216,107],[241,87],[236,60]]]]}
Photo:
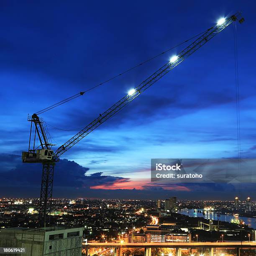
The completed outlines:
{"type": "Polygon", "coordinates": [[[0,247],[25,248],[25,253],[20,254],[23,256],[80,256],[83,230],[64,227],[3,228],[0,247]]]}

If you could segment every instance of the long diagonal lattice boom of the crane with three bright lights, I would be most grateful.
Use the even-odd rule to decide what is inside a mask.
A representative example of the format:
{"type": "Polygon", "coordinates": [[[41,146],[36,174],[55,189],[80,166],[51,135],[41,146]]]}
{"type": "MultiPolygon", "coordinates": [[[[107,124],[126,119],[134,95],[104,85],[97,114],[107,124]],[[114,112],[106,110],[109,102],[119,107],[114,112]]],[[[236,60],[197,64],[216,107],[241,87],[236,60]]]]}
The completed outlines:
{"type": "Polygon", "coordinates": [[[141,84],[139,84],[136,88],[132,90],[132,92],[125,95],[121,100],[116,102],[112,107],[106,110],[104,113],[100,114],[95,120],[93,120],[89,125],[84,127],[81,131],[79,131],[76,135],[74,135],[71,139],[69,139],[66,143],[61,145],[54,153],[54,158],[57,161],[59,156],[65,153],[69,148],[74,146],[77,142],[82,140],[85,136],[91,133],[95,128],[104,123],[110,117],[118,113],[121,109],[123,109],[126,105],[128,105],[132,100],[134,100],[138,95],[141,95],[142,92],[147,90],[152,84],[158,81],[165,74],[170,72],[174,67],[178,66],[182,61],[187,59],[188,56],[193,54],[195,51],[200,49],[201,46],[206,44],[210,39],[216,36],[218,33],[223,31],[226,27],[228,27],[233,21],[237,20],[237,17],[241,13],[236,13],[232,15],[230,18],[224,19],[223,22],[218,23],[216,26],[208,29],[205,33],[203,33],[199,38],[197,38],[192,44],[187,46],[183,51],[181,51],[175,58],[172,58],[171,61],[168,61],[164,66],[158,69],[154,74],[144,80],[141,84]]]}

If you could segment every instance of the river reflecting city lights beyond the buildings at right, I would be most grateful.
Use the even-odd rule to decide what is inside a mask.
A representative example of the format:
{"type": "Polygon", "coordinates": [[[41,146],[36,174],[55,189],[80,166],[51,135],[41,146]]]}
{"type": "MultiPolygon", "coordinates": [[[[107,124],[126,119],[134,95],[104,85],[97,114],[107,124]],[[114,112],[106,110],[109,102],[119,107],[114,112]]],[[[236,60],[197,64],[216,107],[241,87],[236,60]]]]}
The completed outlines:
{"type": "Polygon", "coordinates": [[[248,225],[251,228],[256,229],[256,218],[246,218],[246,217],[240,217],[240,216],[233,216],[233,215],[223,215],[221,214],[220,216],[215,216],[216,213],[209,213],[209,212],[205,212],[205,215],[202,214],[202,209],[197,209],[200,210],[200,212],[194,212],[194,209],[182,209],[179,210],[178,213],[179,214],[183,214],[183,215],[188,215],[189,217],[202,217],[208,220],[220,220],[220,221],[227,221],[227,222],[231,222],[232,219],[240,219],[243,220],[244,223],[246,225],[248,225]]]}

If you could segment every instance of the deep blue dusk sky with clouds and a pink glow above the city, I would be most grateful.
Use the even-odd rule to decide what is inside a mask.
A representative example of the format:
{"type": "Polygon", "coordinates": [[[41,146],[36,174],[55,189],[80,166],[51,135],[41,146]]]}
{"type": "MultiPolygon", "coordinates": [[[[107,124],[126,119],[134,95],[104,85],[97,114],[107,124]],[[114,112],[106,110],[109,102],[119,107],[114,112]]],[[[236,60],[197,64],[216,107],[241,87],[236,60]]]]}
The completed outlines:
{"type": "MultiPolygon", "coordinates": [[[[245,18],[243,24],[237,23],[241,157],[255,157],[254,1],[1,1],[0,5],[0,197],[39,195],[40,164],[21,163],[21,152],[28,148],[28,113],[87,90],[238,10],[245,18]]],[[[61,129],[82,128],[187,45],[41,117],[61,129]]],[[[59,146],[76,133],[51,128],[49,132],[59,146]]],[[[232,184],[156,187],[150,183],[150,163],[151,158],[236,156],[232,24],[67,151],[56,167],[54,197],[177,195],[232,200],[238,193],[232,184]]],[[[253,191],[255,184],[247,184],[239,195],[251,196],[253,191]]]]}

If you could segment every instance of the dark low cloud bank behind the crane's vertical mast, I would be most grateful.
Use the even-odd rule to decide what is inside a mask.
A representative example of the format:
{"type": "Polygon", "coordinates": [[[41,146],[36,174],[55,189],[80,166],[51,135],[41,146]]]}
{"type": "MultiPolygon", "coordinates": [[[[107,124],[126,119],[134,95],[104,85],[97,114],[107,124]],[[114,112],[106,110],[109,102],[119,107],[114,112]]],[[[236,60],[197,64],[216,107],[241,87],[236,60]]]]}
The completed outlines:
{"type": "MultiPolygon", "coordinates": [[[[10,187],[39,186],[41,184],[41,164],[21,163],[20,156],[1,154],[0,159],[5,162],[5,169],[1,170],[1,185],[9,184],[10,187]],[[8,167],[9,166],[9,167],[8,167]]],[[[115,182],[125,182],[129,179],[122,177],[104,176],[97,172],[86,175],[89,168],[83,167],[74,161],[60,159],[54,169],[54,187],[87,188],[92,186],[110,186],[115,182]]]]}

